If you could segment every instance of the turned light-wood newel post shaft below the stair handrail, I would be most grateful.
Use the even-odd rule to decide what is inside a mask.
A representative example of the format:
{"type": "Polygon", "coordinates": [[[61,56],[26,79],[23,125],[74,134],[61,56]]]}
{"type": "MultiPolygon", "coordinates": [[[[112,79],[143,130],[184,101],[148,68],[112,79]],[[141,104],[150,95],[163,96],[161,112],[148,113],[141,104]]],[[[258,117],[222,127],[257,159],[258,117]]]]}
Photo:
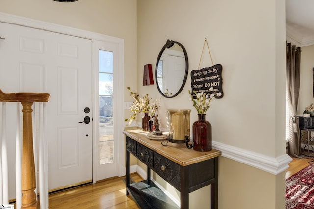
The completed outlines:
{"type": "Polygon", "coordinates": [[[22,150],[22,207],[37,209],[36,177],[33,150],[32,105],[33,102],[21,102],[23,109],[23,150],[22,150]]]}

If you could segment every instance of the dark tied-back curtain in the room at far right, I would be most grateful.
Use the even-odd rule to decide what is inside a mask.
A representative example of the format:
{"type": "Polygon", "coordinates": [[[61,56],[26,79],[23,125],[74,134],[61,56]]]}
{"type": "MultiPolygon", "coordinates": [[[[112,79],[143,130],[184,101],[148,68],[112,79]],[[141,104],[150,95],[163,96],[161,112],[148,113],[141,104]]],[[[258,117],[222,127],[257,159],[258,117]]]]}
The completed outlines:
{"type": "MultiPolygon", "coordinates": [[[[300,155],[300,135],[293,132],[293,122],[296,121],[296,110],[298,107],[299,90],[300,90],[300,57],[301,49],[292,46],[291,43],[286,44],[286,94],[288,108],[290,113],[289,120],[289,147],[290,155],[299,157],[300,155]]],[[[297,125],[297,128],[299,126],[297,125]]]]}

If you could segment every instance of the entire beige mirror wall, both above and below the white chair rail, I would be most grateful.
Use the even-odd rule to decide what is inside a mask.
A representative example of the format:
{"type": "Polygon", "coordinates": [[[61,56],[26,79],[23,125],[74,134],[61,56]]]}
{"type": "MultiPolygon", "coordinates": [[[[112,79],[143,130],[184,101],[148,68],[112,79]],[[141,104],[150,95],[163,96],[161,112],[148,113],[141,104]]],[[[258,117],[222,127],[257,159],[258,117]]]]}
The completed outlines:
{"type": "MultiPolygon", "coordinates": [[[[207,112],[212,139],[272,158],[283,155],[285,1],[138,0],[138,81],[146,63],[155,68],[167,39],[183,44],[189,73],[196,70],[205,37],[214,64],[223,66],[224,97],[214,100],[207,112]]],[[[200,68],[212,65],[206,52],[200,68]]],[[[189,74],[183,92],[170,99],[161,97],[156,85],[138,82],[137,89],[141,95],[161,97],[159,116],[163,125],[170,108],[192,109],[192,125],[197,112],[188,100],[190,84],[189,74]]],[[[224,157],[219,162],[220,209],[285,208],[283,173],[272,175],[224,157]]],[[[193,194],[191,201],[208,200],[207,191],[193,194]]],[[[208,208],[208,201],[197,202],[197,208],[208,208]]]]}

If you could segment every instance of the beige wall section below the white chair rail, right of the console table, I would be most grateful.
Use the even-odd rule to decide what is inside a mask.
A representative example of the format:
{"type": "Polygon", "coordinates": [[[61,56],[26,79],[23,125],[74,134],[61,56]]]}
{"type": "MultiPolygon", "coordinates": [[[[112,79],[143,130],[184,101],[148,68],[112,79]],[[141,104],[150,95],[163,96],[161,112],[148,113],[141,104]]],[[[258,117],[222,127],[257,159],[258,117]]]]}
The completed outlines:
{"type": "Polygon", "coordinates": [[[278,191],[285,188],[284,172],[275,176],[223,157],[219,163],[220,209],[285,208],[284,195],[278,191]]]}

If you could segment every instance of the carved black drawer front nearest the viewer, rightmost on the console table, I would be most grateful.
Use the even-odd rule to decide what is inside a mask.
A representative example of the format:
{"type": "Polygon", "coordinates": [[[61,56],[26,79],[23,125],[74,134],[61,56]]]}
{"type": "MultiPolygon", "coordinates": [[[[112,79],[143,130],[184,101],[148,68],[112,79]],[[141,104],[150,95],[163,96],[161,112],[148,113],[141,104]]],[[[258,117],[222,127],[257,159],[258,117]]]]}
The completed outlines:
{"type": "Polygon", "coordinates": [[[154,152],[154,171],[180,191],[180,166],[154,152]]]}

